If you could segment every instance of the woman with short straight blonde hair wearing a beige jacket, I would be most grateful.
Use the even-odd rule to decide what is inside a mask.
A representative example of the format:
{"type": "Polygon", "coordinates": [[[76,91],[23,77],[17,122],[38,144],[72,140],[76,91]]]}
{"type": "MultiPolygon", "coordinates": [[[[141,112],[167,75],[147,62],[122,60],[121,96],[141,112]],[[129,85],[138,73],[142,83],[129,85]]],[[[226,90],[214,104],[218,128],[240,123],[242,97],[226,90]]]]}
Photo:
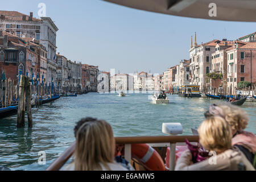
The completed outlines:
{"type": "Polygon", "coordinates": [[[193,164],[191,151],[187,150],[177,160],[175,170],[212,171],[212,170],[252,170],[254,167],[245,155],[237,148],[232,147],[232,131],[229,124],[221,117],[205,119],[199,127],[201,146],[210,151],[212,157],[193,164]]]}

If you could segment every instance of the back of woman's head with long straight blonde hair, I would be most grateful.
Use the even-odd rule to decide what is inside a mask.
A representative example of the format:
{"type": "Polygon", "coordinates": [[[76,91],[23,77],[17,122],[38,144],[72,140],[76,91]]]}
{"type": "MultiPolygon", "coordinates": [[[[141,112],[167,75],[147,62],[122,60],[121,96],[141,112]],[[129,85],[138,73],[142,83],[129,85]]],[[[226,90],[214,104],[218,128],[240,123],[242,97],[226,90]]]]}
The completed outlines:
{"type": "Polygon", "coordinates": [[[101,170],[114,162],[115,140],[112,127],[104,120],[85,118],[77,122],[75,170],[101,170]]]}

